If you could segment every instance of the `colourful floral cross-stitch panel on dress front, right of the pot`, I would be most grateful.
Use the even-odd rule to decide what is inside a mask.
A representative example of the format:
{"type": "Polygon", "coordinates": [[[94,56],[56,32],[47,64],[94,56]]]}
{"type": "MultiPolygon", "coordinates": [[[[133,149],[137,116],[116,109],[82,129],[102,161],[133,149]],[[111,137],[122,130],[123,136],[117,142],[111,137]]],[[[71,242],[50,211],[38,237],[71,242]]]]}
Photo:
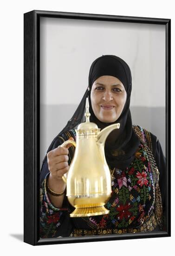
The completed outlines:
{"type": "MultiPolygon", "coordinates": [[[[143,152],[143,145],[140,144],[129,168],[113,169],[112,195],[106,204],[110,210],[108,218],[94,216],[96,223],[103,223],[104,228],[128,228],[132,223],[137,227],[151,214],[154,202],[153,180],[148,159],[143,152]]],[[[98,225],[98,228],[101,226],[98,225]]]]}

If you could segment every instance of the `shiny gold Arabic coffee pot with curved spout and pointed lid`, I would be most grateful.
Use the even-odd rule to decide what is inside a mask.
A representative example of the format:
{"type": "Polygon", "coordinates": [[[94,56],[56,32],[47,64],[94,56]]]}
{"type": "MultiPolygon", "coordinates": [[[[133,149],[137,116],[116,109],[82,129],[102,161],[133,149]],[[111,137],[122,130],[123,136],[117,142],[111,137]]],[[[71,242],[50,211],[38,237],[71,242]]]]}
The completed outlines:
{"type": "Polygon", "coordinates": [[[71,143],[76,147],[67,175],[62,178],[67,184],[67,197],[75,210],[71,217],[108,214],[104,205],[111,195],[110,169],[104,155],[104,143],[120,123],[112,124],[102,131],[89,117],[89,101],[86,98],[86,121],[76,129],[76,142],[65,141],[60,147],[71,143]]]}

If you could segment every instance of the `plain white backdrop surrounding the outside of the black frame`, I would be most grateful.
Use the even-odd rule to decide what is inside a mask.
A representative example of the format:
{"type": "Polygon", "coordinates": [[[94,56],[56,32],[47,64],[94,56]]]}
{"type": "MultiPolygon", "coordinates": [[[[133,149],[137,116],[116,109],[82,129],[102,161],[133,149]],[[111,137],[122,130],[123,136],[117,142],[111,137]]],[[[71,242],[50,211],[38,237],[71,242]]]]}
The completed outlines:
{"type": "MultiPolygon", "coordinates": [[[[98,255],[142,254],[164,256],[174,251],[175,241],[175,16],[172,0],[97,1],[30,0],[1,3],[0,160],[2,255],[98,255]],[[101,13],[172,19],[172,236],[167,238],[60,244],[32,247],[23,243],[23,13],[36,10],[101,13]]],[[[32,207],[32,206],[31,206],[32,207]]]]}

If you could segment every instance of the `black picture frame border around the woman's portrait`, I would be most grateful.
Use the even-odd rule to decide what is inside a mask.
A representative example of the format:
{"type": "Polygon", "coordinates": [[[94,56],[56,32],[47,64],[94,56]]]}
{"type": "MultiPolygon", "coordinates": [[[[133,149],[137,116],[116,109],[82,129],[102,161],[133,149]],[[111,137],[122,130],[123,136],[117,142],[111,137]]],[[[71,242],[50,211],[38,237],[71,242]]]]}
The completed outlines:
{"type": "Polygon", "coordinates": [[[171,234],[170,212],[170,127],[171,127],[171,20],[90,13],[68,13],[34,10],[24,14],[24,242],[32,245],[81,243],[93,241],[123,240],[133,238],[166,237],[171,234]],[[160,24],[166,26],[166,231],[88,237],[39,237],[39,95],[40,95],[40,18],[64,18],[77,20],[98,20],[160,24]]]}

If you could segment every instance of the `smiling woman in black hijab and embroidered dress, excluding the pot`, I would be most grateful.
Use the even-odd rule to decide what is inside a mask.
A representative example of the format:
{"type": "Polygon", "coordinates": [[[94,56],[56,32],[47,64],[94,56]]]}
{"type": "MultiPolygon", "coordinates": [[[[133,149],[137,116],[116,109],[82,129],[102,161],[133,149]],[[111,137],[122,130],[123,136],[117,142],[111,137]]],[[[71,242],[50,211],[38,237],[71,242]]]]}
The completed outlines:
{"type": "MultiPolygon", "coordinates": [[[[88,236],[150,232],[165,229],[165,158],[156,136],[132,124],[130,67],[115,55],[103,55],[91,65],[89,85],[76,112],[52,141],[40,172],[40,236],[88,236]],[[74,148],[58,148],[76,141],[75,128],[84,119],[89,97],[90,121],[98,128],[120,123],[105,143],[112,194],[109,214],[70,218],[62,176],[69,170],[74,148]]],[[[81,171],[81,170],[80,170],[81,171]]],[[[88,177],[88,173],[87,173],[88,177]]]]}

